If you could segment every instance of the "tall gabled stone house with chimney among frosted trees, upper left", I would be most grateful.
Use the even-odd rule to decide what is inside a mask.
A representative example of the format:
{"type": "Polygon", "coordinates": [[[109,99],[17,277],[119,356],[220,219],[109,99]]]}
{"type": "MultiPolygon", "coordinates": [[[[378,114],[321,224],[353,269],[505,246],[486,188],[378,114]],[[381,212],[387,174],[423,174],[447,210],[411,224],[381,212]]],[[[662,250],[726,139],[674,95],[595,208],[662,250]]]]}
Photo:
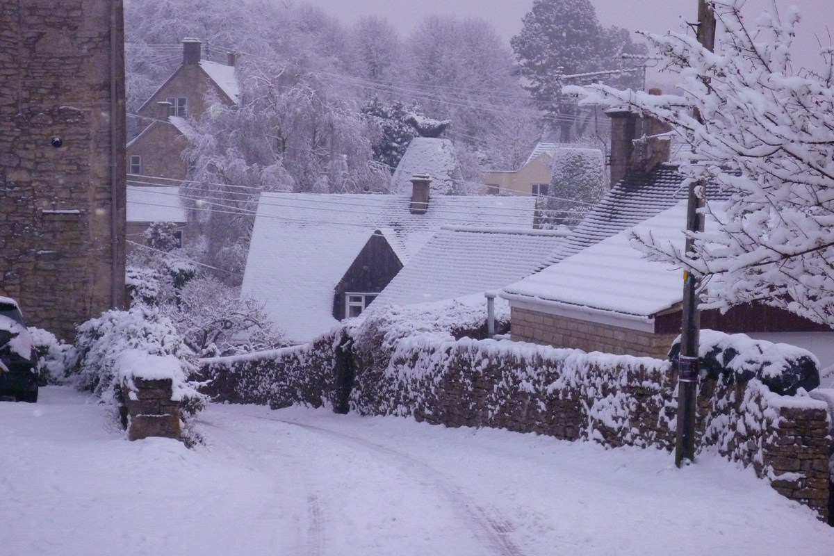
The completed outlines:
{"type": "Polygon", "coordinates": [[[228,54],[226,64],[203,60],[201,53],[198,39],[183,40],[182,65],[138,109],[138,135],[128,143],[128,181],[176,185],[172,180],[188,173],[183,160],[188,120],[205,112],[210,95],[224,106],[238,103],[234,53],[228,54]]]}

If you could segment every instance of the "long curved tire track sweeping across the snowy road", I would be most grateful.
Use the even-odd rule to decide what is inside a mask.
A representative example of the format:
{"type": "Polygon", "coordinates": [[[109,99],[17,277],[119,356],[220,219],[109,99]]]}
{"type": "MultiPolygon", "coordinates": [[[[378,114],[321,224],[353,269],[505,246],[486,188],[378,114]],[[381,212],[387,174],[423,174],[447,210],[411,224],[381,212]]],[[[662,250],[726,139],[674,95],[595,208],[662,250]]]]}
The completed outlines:
{"type": "MultiPolygon", "coordinates": [[[[510,534],[515,531],[515,528],[506,521],[500,513],[494,508],[483,508],[477,505],[469,496],[461,491],[455,484],[448,480],[439,479],[440,472],[431,468],[429,465],[420,462],[417,459],[411,458],[409,455],[384,446],[365,440],[364,438],[357,438],[349,434],[338,433],[327,428],[320,428],[306,423],[298,423],[295,421],[288,421],[286,419],[269,418],[257,416],[257,418],[267,421],[274,421],[276,423],[285,423],[294,427],[304,428],[314,433],[319,433],[324,436],[338,438],[343,442],[358,444],[365,450],[373,453],[384,454],[387,458],[395,460],[401,466],[409,468],[420,474],[420,477],[427,484],[443,493],[446,498],[449,498],[452,503],[455,513],[460,516],[460,519],[466,523],[470,531],[475,534],[475,538],[479,538],[482,543],[488,546],[491,554],[495,556],[524,556],[521,549],[513,543],[510,534]]],[[[310,521],[311,528],[313,521],[310,521]]],[[[313,554],[313,553],[310,553],[313,554]]],[[[318,554],[318,553],[316,553],[318,554]]]]}

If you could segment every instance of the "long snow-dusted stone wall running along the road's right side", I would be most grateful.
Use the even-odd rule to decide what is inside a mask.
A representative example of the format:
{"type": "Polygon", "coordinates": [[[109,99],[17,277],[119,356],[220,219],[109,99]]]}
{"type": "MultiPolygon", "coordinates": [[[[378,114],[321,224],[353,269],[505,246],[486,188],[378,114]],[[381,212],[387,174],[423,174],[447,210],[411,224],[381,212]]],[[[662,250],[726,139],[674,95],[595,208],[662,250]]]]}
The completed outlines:
{"type": "MultiPolygon", "coordinates": [[[[405,316],[365,318],[314,343],[206,360],[204,368],[229,402],[329,405],[610,447],[674,448],[677,381],[666,361],[472,339],[405,316]]],[[[697,445],[752,466],[827,519],[827,419],[826,403],[779,396],[756,379],[705,379],[697,445]]]]}

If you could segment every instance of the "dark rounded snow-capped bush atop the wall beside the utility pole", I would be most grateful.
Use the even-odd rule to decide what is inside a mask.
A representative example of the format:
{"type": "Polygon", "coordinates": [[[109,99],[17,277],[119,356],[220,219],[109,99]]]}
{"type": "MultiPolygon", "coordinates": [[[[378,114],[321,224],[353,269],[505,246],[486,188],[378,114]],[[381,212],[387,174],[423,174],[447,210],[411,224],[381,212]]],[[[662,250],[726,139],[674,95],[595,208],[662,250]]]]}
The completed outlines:
{"type": "MultiPolygon", "coordinates": [[[[678,336],[669,351],[673,367],[677,367],[680,353],[678,336]]],[[[754,340],[746,334],[701,330],[698,359],[701,373],[708,378],[724,376],[730,383],[758,378],[771,392],[783,396],[820,385],[819,360],[813,353],[787,343],[754,340]]]]}

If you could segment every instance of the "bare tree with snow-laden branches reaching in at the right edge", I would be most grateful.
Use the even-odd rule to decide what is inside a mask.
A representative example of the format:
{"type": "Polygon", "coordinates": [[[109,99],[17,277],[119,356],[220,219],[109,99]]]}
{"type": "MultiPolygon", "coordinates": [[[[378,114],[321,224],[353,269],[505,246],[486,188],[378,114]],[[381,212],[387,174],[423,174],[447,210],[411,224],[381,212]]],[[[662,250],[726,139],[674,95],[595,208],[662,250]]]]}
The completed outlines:
{"type": "Polygon", "coordinates": [[[821,71],[797,71],[795,8],[750,23],[740,0],[712,4],[725,29],[715,53],[683,34],[647,36],[680,72],[681,95],[565,92],[671,124],[691,148],[681,172],[729,195],[707,205],[718,226],[694,234],[692,256],[642,238],[652,258],[704,277],[707,307],[761,301],[834,326],[834,49],[821,49],[821,71]]]}

